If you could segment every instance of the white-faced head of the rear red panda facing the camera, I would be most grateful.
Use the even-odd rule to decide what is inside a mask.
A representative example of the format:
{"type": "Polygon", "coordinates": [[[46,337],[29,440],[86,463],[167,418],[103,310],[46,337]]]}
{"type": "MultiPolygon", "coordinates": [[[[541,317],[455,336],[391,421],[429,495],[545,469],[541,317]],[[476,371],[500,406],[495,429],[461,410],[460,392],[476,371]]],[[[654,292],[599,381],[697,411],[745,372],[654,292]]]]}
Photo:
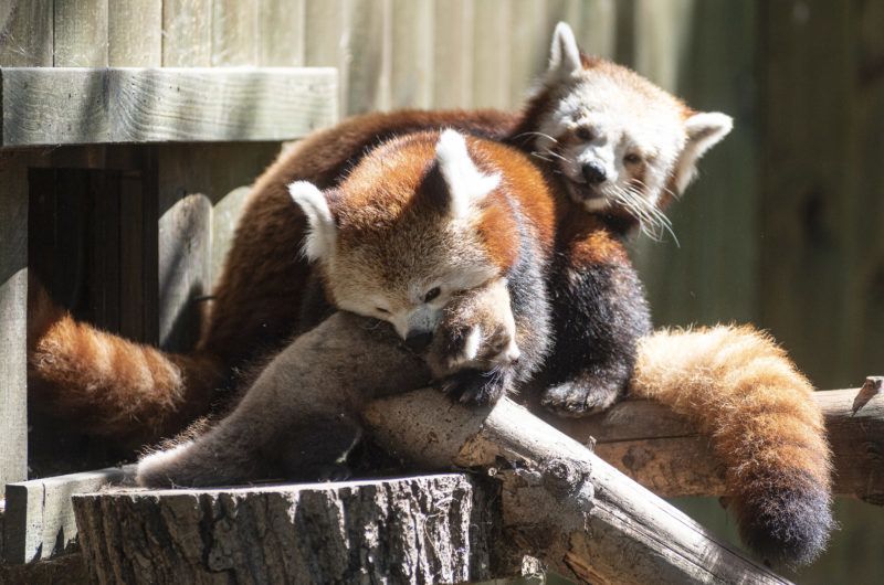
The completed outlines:
{"type": "Polygon", "coordinates": [[[667,226],[660,209],[733,124],[725,114],[691,110],[627,67],[582,55],[564,22],[541,82],[526,113],[536,131],[523,138],[560,170],[573,201],[632,215],[650,232],[667,226]]]}

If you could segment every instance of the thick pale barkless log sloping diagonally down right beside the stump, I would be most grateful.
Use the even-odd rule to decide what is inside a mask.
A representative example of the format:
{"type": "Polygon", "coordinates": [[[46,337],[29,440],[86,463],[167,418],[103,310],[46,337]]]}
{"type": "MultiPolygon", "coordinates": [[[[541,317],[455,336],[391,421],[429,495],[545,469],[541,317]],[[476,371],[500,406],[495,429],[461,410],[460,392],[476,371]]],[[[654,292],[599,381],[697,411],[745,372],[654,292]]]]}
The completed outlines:
{"type": "Polygon", "coordinates": [[[465,408],[422,390],[375,401],[365,418],[399,456],[499,477],[504,541],[570,578],[785,583],[508,400],[491,411],[465,408]]]}

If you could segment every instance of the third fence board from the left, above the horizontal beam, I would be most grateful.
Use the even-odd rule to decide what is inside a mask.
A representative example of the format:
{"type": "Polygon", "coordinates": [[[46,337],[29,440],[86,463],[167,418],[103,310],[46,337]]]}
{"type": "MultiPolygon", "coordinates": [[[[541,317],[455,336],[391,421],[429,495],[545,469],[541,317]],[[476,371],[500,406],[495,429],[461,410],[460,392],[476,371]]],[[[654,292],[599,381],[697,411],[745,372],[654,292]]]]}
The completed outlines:
{"type": "Polygon", "coordinates": [[[162,0],[114,0],[107,11],[112,67],[162,65],[162,0]]]}

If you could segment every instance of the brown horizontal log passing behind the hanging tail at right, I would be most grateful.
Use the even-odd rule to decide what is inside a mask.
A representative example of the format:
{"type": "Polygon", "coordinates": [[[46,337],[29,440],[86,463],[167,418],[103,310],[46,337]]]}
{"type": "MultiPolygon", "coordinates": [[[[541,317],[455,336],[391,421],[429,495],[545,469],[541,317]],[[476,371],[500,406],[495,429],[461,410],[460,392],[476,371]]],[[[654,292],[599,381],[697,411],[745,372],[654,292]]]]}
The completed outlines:
{"type": "MultiPolygon", "coordinates": [[[[873,392],[863,397],[854,414],[861,394],[862,389],[819,391],[813,400],[825,416],[835,493],[882,504],[884,396],[873,392]]],[[[594,443],[596,454],[654,493],[667,498],[726,494],[724,469],[708,437],[662,404],[627,401],[600,416],[544,418],[581,444],[594,443]]]]}

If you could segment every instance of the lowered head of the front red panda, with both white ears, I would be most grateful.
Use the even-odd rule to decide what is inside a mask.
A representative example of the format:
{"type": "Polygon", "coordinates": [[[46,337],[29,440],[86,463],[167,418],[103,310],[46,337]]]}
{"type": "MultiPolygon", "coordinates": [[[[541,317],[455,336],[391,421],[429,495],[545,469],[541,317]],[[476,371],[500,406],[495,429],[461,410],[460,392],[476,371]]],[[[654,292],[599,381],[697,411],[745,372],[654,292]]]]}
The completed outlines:
{"type": "Polygon", "coordinates": [[[407,338],[431,332],[452,295],[503,278],[514,258],[487,231],[516,227],[501,217],[501,174],[474,150],[453,130],[408,135],[368,153],[336,189],[288,187],[309,224],[304,254],[338,308],[407,338]]]}

